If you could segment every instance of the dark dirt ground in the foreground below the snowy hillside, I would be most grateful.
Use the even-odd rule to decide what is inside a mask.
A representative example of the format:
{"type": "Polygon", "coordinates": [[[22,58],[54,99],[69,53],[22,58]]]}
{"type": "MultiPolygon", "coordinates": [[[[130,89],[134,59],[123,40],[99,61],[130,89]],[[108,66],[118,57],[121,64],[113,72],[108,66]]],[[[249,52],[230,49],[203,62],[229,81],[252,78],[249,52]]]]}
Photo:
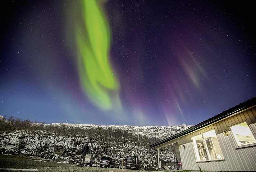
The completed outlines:
{"type": "MultiPolygon", "coordinates": [[[[45,161],[42,158],[32,158],[24,155],[0,154],[0,172],[138,172],[130,169],[77,167],[75,164],[63,164],[45,161]]],[[[149,171],[148,171],[149,172],[149,171]]]]}

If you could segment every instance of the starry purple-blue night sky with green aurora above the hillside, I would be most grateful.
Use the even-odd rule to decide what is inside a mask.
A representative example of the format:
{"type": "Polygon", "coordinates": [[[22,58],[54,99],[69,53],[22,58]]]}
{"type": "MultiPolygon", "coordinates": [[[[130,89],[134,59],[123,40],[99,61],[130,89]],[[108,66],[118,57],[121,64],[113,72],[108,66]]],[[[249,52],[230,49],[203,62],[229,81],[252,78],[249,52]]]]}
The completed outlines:
{"type": "Polygon", "coordinates": [[[100,125],[205,121],[256,96],[252,2],[3,3],[0,114],[100,125]]]}

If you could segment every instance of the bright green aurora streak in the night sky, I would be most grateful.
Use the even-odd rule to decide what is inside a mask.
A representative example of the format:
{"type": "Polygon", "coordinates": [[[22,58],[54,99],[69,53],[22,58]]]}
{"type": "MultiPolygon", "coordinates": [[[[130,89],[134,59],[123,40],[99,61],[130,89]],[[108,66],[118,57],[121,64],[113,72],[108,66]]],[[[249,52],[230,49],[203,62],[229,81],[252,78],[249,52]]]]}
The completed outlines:
{"type": "Polygon", "coordinates": [[[113,104],[120,107],[119,83],[108,59],[109,24],[95,0],[84,0],[82,13],[79,16],[83,16],[83,24],[76,27],[76,42],[83,90],[100,109],[113,109],[113,104]]]}

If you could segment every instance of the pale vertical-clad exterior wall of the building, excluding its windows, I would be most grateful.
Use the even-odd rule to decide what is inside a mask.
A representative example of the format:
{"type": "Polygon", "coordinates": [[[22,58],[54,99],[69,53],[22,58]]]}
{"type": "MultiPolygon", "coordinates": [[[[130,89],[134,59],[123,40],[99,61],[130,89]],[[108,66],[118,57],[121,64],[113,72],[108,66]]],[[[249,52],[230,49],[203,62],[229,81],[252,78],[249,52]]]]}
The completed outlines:
{"type": "MultiPolygon", "coordinates": [[[[254,137],[256,137],[256,108],[253,107],[191,134],[169,141],[165,143],[165,146],[174,142],[181,144],[181,148],[179,147],[178,149],[183,170],[199,171],[198,167],[200,167],[202,171],[256,171],[256,144],[254,146],[238,148],[233,133],[230,130],[230,126],[245,121],[254,137]],[[228,136],[224,135],[224,128],[227,129],[228,136]],[[192,137],[210,130],[215,130],[224,160],[197,162],[192,137]]],[[[159,147],[163,147],[163,145],[159,147]]]]}

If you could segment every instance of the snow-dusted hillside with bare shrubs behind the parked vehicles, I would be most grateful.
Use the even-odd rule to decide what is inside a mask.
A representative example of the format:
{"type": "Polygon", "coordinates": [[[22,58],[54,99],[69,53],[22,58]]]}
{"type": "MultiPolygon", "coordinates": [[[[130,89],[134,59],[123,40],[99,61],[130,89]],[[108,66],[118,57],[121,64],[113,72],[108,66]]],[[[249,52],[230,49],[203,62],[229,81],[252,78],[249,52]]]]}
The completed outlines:
{"type": "MultiPolygon", "coordinates": [[[[40,129],[16,129],[0,132],[0,152],[39,156],[49,161],[77,163],[78,150],[85,143],[94,156],[94,166],[99,165],[102,156],[110,156],[117,167],[123,168],[128,155],[138,156],[142,167],[156,167],[156,152],[150,148],[161,139],[170,137],[191,126],[98,126],[88,124],[33,124],[40,129]],[[57,149],[64,149],[64,155],[53,155],[57,149]],[[76,155],[75,155],[76,154],[76,155]],[[73,159],[74,157],[74,159],[73,159]]],[[[172,148],[160,154],[165,162],[175,161],[172,148]]]]}

